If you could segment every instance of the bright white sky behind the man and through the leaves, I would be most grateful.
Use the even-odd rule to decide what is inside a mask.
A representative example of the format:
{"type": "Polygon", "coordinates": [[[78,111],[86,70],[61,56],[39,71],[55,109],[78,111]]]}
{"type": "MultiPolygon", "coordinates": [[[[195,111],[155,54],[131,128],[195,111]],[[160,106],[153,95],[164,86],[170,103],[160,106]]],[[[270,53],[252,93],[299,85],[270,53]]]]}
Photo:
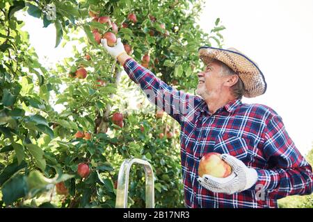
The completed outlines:
{"type": "MultiPolygon", "coordinates": [[[[55,65],[72,55],[70,44],[54,48],[53,24],[42,28],[41,19],[17,15],[26,22],[24,30],[40,62],[55,65]]],[[[217,17],[226,27],[221,32],[223,48],[232,46],[255,60],[268,84],[266,94],[243,101],[276,110],[300,152],[306,154],[313,141],[313,1],[207,0],[200,26],[209,32],[217,17]]]]}

